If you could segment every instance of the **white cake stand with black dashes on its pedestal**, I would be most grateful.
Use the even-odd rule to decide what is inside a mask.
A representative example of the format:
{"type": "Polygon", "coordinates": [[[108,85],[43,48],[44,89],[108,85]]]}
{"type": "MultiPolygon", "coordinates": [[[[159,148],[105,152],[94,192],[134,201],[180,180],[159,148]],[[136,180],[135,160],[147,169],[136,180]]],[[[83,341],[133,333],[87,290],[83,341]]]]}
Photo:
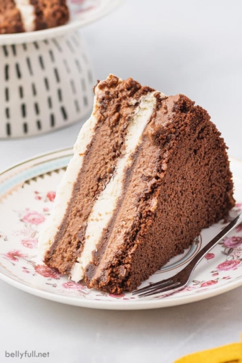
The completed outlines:
{"type": "Polygon", "coordinates": [[[0,138],[46,133],[91,111],[93,71],[77,29],[120,0],[69,0],[65,26],[0,35],[0,138]]]}

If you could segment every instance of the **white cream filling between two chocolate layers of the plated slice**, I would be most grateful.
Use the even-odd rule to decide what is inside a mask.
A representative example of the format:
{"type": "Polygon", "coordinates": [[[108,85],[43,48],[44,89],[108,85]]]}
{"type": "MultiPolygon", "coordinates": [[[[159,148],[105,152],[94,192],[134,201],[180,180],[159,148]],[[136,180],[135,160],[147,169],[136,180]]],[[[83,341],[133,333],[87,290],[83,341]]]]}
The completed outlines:
{"type": "Polygon", "coordinates": [[[97,249],[97,243],[102,237],[102,232],[113,216],[113,212],[122,194],[125,170],[132,163],[131,156],[136,150],[136,147],[140,145],[142,133],[156,106],[154,93],[156,92],[148,93],[140,98],[140,105],[133,115],[133,120],[129,124],[125,138],[125,155],[118,160],[113,177],[93,205],[93,210],[87,221],[84,249],[71,271],[71,279],[73,281],[78,282],[83,279],[84,270],[92,261],[92,252],[97,249]]]}

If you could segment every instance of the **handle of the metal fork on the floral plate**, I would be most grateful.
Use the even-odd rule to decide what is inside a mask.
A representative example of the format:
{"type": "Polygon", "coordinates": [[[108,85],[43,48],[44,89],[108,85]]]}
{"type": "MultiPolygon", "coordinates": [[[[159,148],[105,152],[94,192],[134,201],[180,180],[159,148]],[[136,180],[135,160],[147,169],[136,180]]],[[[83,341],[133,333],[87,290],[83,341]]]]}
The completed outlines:
{"type": "Polygon", "coordinates": [[[190,263],[188,263],[188,265],[183,269],[184,272],[188,272],[189,270],[189,274],[192,274],[192,272],[194,271],[194,269],[196,268],[196,266],[198,266],[198,263],[201,261],[201,259],[203,259],[203,257],[205,256],[205,254],[207,254],[207,252],[210,252],[210,250],[212,250],[212,248],[218,243],[220,242],[225,236],[227,236],[227,234],[229,232],[231,232],[232,230],[234,230],[234,228],[239,225],[242,222],[242,213],[239,214],[239,216],[236,216],[236,218],[234,218],[234,220],[232,222],[230,222],[230,224],[228,224],[225,228],[223,228],[223,230],[221,230],[221,232],[219,232],[213,239],[212,241],[210,241],[209,243],[207,243],[207,245],[205,245],[205,247],[198,252],[198,254],[196,254],[196,256],[194,257],[194,259],[192,259],[192,261],[190,263]]]}

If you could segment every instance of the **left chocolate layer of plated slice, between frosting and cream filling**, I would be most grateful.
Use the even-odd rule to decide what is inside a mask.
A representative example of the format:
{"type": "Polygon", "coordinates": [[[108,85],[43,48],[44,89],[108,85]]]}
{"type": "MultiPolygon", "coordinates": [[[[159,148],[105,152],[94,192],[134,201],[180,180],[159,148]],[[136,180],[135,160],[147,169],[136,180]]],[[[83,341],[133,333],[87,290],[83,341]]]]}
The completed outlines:
{"type": "Polygon", "coordinates": [[[62,224],[45,256],[48,266],[56,267],[62,273],[70,273],[82,254],[86,223],[97,197],[109,183],[118,159],[124,153],[124,138],[132,115],[140,97],[153,91],[131,79],[120,83],[118,77],[111,77],[98,86],[95,135],[86,150],[62,224]]]}

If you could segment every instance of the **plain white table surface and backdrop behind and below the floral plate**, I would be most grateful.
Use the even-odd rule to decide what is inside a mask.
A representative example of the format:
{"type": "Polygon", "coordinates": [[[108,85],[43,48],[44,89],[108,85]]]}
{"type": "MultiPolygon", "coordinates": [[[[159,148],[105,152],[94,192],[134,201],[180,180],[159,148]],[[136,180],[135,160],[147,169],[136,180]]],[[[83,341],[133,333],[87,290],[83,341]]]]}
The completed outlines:
{"type": "MultiPolygon", "coordinates": [[[[239,0],[127,0],[82,35],[98,79],[131,76],[164,93],[188,95],[210,112],[230,155],[242,159],[241,12],[239,0]]],[[[1,140],[0,169],[73,145],[80,124],[37,138],[1,140]]],[[[242,331],[242,288],[185,306],[130,312],[65,306],[2,281],[0,291],[3,363],[171,363],[239,341],[242,331]],[[5,358],[5,351],[17,350],[49,351],[50,357],[5,358]]]]}

